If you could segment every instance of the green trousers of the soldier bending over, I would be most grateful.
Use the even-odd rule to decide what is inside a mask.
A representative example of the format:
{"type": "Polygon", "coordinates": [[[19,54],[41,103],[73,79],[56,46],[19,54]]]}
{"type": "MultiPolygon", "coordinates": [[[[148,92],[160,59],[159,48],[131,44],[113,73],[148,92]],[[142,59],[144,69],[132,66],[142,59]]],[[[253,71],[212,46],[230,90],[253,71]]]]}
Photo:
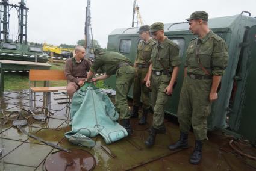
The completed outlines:
{"type": "Polygon", "coordinates": [[[120,67],[116,72],[116,111],[120,119],[129,119],[130,110],[127,102],[127,95],[133,84],[135,69],[132,66],[120,67]]]}

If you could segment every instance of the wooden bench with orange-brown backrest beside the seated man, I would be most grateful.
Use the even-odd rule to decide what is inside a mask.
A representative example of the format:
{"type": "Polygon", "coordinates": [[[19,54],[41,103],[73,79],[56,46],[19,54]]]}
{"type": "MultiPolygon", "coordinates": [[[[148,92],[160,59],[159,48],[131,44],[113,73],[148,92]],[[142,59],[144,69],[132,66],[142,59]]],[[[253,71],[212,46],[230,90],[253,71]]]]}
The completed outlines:
{"type": "Polygon", "coordinates": [[[30,81],[30,109],[32,107],[33,93],[43,92],[43,107],[45,107],[45,97],[47,107],[51,110],[51,92],[58,90],[66,90],[67,87],[50,87],[50,81],[67,80],[64,71],[62,70],[35,70],[31,69],[29,73],[30,81]],[[44,81],[43,87],[31,87],[31,81],[44,81]],[[46,96],[45,96],[46,95],[46,96]]]}

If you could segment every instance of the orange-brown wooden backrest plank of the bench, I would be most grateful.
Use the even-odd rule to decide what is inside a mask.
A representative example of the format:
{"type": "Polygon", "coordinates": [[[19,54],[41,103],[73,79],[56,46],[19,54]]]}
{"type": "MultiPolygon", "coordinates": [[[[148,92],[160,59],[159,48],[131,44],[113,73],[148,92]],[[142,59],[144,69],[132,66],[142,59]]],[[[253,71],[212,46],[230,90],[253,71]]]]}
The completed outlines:
{"type": "Polygon", "coordinates": [[[30,81],[57,81],[67,80],[63,70],[37,70],[31,69],[30,81]]]}

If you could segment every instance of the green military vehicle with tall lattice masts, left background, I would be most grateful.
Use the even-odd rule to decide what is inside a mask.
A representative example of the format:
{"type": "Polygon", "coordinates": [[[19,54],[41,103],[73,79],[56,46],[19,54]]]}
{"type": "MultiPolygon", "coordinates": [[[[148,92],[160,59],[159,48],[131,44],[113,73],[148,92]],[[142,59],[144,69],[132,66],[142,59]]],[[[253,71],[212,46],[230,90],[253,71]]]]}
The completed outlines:
{"type": "Polygon", "coordinates": [[[19,5],[10,4],[8,0],[0,2],[0,60],[33,61],[45,63],[48,55],[43,54],[42,48],[30,46],[27,42],[28,8],[24,0],[19,5]],[[16,41],[9,39],[10,10],[16,8],[19,13],[19,31],[16,41]]]}

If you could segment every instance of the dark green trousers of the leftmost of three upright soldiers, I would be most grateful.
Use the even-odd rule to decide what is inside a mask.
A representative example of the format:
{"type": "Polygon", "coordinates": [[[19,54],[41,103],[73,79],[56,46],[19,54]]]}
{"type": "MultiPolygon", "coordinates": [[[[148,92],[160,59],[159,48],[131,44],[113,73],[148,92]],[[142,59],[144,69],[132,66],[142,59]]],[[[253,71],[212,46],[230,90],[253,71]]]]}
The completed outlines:
{"type": "Polygon", "coordinates": [[[146,87],[144,78],[148,73],[148,68],[136,68],[137,75],[134,79],[133,84],[133,105],[140,106],[140,98],[142,99],[142,108],[149,109],[150,107],[150,98],[149,92],[150,89],[146,87]]]}

